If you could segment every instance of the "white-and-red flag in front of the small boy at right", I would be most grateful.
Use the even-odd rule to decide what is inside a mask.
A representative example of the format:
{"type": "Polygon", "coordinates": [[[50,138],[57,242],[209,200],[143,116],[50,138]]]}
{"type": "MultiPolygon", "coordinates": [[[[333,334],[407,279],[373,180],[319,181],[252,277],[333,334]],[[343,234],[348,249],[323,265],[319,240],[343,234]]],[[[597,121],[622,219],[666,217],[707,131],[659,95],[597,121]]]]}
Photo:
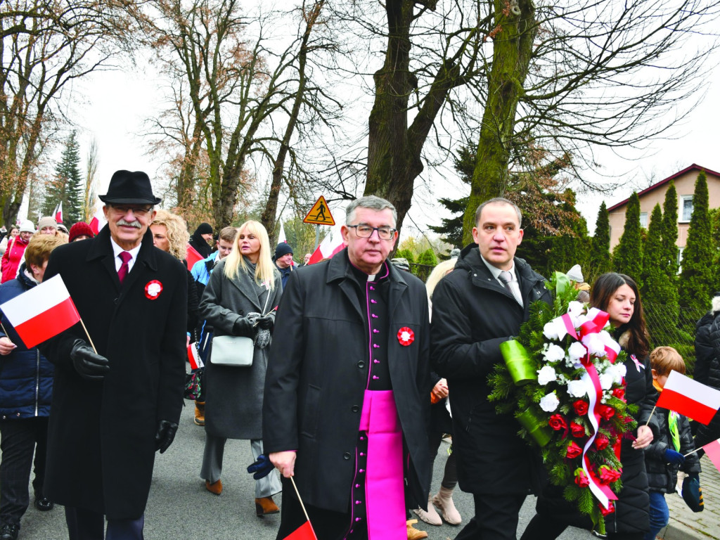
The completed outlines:
{"type": "Polygon", "coordinates": [[[672,371],[660,392],[657,406],[674,410],[707,426],[720,409],[720,391],[672,371]]]}

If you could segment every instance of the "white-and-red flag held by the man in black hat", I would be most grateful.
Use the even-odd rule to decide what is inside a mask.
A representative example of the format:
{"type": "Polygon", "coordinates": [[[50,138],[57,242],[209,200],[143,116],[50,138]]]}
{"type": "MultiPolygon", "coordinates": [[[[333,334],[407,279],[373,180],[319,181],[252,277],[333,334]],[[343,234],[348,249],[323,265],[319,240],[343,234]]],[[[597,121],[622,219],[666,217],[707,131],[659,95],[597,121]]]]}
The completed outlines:
{"type": "Polygon", "coordinates": [[[27,348],[57,336],[80,320],[80,314],[58,274],[0,304],[27,348]]]}

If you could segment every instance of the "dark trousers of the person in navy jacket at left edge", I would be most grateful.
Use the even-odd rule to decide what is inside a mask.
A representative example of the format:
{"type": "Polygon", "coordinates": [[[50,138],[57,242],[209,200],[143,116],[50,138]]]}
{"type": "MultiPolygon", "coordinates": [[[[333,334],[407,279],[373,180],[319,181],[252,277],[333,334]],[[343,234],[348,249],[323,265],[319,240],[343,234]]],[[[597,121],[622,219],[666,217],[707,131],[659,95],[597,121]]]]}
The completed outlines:
{"type": "Polygon", "coordinates": [[[30,505],[32,455],[35,454],[35,479],[32,489],[42,496],[45,482],[45,456],[48,447],[48,417],[0,420],[0,522],[18,525],[30,505]]]}

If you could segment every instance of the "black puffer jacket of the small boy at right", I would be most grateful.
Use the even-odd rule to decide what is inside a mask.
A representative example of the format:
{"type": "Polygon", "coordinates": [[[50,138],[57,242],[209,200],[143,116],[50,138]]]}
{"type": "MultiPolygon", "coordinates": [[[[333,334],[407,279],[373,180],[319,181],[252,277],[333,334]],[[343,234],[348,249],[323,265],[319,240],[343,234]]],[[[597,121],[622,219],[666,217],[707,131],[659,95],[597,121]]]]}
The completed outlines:
{"type": "Polygon", "coordinates": [[[645,467],[647,469],[647,481],[651,491],[662,493],[674,493],[675,484],[678,483],[678,469],[687,472],[700,472],[700,459],[698,454],[690,454],[695,450],[693,435],[690,433],[690,422],[688,418],[680,415],[678,417],[678,431],[680,432],[680,454],[685,456],[685,464],[682,467],[667,463],[665,450],[672,449],[672,436],[668,427],[667,417],[670,411],[667,409],[655,409],[654,418],[657,418],[659,434],[653,439],[652,444],[645,449],[645,467]]]}

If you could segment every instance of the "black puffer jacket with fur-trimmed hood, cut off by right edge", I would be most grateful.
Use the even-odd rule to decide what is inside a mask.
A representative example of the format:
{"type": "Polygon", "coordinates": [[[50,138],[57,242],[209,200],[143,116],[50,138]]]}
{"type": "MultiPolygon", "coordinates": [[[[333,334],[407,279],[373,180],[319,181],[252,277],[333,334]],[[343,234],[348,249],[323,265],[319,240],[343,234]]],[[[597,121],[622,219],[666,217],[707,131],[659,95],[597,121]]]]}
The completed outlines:
{"type": "MultiPolygon", "coordinates": [[[[712,321],[709,324],[700,325],[705,317],[698,321],[698,333],[695,338],[698,354],[695,373],[698,382],[720,390],[720,297],[713,299],[711,316],[712,321]]],[[[699,448],[717,438],[720,438],[720,413],[716,413],[707,426],[698,423],[695,445],[699,448]]]]}

